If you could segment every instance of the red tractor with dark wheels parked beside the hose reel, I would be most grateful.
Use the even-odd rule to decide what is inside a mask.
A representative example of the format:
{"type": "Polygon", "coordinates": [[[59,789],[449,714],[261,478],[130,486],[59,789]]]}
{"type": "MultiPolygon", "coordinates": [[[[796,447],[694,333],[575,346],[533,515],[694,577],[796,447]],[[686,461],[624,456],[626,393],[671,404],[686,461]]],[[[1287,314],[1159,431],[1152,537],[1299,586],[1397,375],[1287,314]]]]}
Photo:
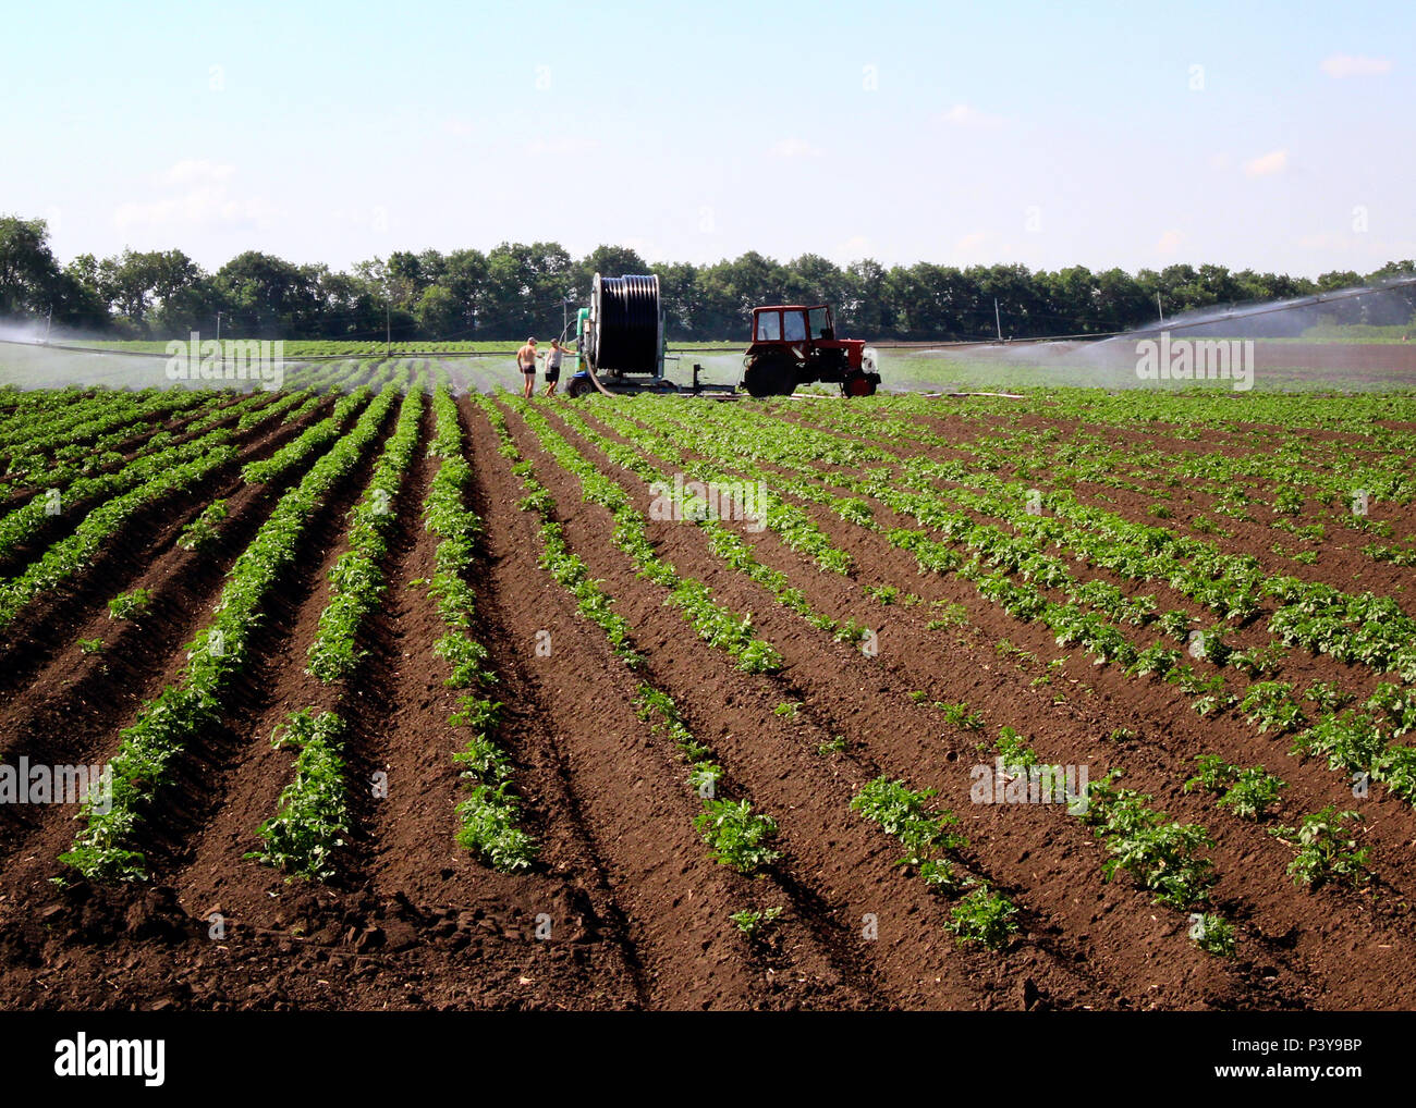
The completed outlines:
{"type": "Polygon", "coordinates": [[[753,308],[742,367],[742,388],[753,396],[790,396],[813,381],[840,385],[843,396],[871,396],[881,383],[875,351],[861,338],[837,338],[827,304],[753,308]]]}

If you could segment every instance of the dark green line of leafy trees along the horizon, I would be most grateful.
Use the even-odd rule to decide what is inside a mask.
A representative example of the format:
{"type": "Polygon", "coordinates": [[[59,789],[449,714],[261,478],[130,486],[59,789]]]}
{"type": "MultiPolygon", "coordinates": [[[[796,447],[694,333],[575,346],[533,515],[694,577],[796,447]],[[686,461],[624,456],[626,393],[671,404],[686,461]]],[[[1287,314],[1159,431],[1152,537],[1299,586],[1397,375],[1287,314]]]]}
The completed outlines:
{"type": "MultiPolygon", "coordinates": [[[[0,217],[0,318],[51,318],[57,335],[210,334],[219,316],[222,334],[244,338],[520,340],[556,331],[566,316],[573,321],[595,273],[650,272],[658,273],[675,341],[743,341],[750,308],[773,303],[830,303],[841,335],[940,341],[991,337],[1000,327],[1007,338],[1123,331],[1153,324],[1157,311],[1170,317],[1410,276],[1416,262],[1317,279],[1215,265],[1095,273],[927,262],[886,269],[864,259],[843,267],[818,255],[776,262],[755,250],[712,265],[650,266],[622,246],[575,259],[555,242],[504,242],[487,252],[395,250],[350,272],[248,250],[208,273],[181,250],[81,255],[61,266],[44,219],[0,217]]],[[[1416,292],[1334,301],[1324,313],[1338,324],[1405,325],[1416,321],[1416,292]]],[[[1311,321],[1277,313],[1264,325],[1287,334],[1311,321]]]]}

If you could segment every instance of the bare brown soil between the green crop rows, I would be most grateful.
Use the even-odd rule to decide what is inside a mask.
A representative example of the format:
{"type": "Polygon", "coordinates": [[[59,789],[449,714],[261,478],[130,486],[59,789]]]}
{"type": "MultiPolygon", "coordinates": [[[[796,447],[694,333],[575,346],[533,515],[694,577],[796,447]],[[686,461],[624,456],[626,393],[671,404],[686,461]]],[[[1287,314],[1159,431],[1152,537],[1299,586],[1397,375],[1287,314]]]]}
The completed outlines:
{"type": "MultiPolygon", "coordinates": [[[[520,483],[490,423],[467,398],[460,410],[474,471],[470,507],[486,524],[472,579],[474,635],[491,651],[496,696],[506,705],[498,739],[514,761],[525,826],[541,843],[535,866],[501,875],[455,841],[462,783],[452,756],[466,736],[449,723],[459,693],[443,683],[446,662],[433,647],[445,628],[422,584],[436,548],[422,500],[438,464],[422,449],[395,501],[387,593],[362,635],[364,664],[338,688],[304,671],[327,603],[326,572],[346,549],[346,515],[362,495],[375,447],[306,535],[222,727],[200,736],[177,785],[161,795],[144,841],[152,883],[58,887],[50,879],[62,872],[57,856],[72,838],[74,809],[0,812],[0,1006],[1416,1006],[1409,807],[1381,790],[1354,801],[1341,775],[1289,757],[1287,739],[1259,736],[1233,713],[1201,717],[1171,685],[1092,666],[1082,651],[1059,650],[1046,628],[1008,617],[967,582],[922,576],[912,556],[809,504],[800,507],[852,555],[851,576],[818,570],[772,532],[741,533],[816,610],[869,625],[878,657],[777,604],[718,559],[702,529],[650,524],[658,555],[711,586],[721,604],[750,613],[756,633],[786,659],[780,674],[743,674],[664,604],[666,590],[636,576],[613,542],[609,512],[582,501],[576,478],[507,409],[566,541],[634,627],[644,664],[630,671],[537,565],[538,518],[518,508],[520,483]],[[862,591],[874,584],[919,601],[881,604],[862,591]],[[933,601],[963,606],[967,624],[930,628],[942,611],[933,601]],[[541,633],[549,654],[537,650],[547,641],[541,633]],[[1000,655],[1000,640],[1032,658],[1000,655]],[[1059,669],[1045,669],[1063,655],[1059,669]],[[777,821],[782,859],[763,876],[738,875],[709,856],[694,828],[701,805],[688,766],[634,710],[641,682],[673,696],[695,737],[714,749],[722,792],[777,821]],[[935,700],[966,702],[981,713],[981,730],[949,725],[935,700]],[[323,886],[286,882],[245,858],[290,780],[292,754],[272,749],[270,733],[306,706],[337,706],[348,722],[354,831],[338,877],[323,886]],[[1153,904],[1124,876],[1104,882],[1104,849],[1061,808],[971,804],[970,770],[993,761],[980,743],[991,747],[1004,725],[1029,736],[1046,761],[1087,764],[1093,780],[1121,766],[1126,784],[1151,792],[1157,807],[1204,824],[1216,841],[1216,907],[1239,927],[1238,957],[1199,951],[1187,938],[1187,914],[1153,904]],[[1131,736],[1112,739],[1119,727],[1131,736]],[[843,746],[837,739],[844,749],[831,749],[843,746]],[[1211,797],[1181,790],[1199,753],[1262,761],[1284,777],[1286,819],[1325,804],[1361,808],[1379,877],[1374,889],[1296,890],[1284,873],[1289,846],[1263,825],[1218,812],[1211,797]],[[388,783],[382,798],[371,788],[379,773],[388,783]],[[882,774],[937,790],[936,804],[957,814],[969,838],[960,870],[1020,908],[1020,931],[1004,950],[957,945],[946,928],[956,897],[929,891],[895,865],[899,845],[851,811],[860,787],[882,774]],[[783,911],[749,940],[728,923],[748,907],[783,911]]],[[[593,409],[582,410],[616,437],[593,409]]],[[[647,511],[637,477],[549,417],[647,511]]],[[[964,446],[980,430],[977,422],[940,425],[964,446]]],[[[391,427],[392,419],[385,433],[391,427]]],[[[423,444],[430,430],[425,416],[423,444]]],[[[295,433],[252,434],[242,464],[295,433]]],[[[183,644],[210,618],[225,570],[280,491],[244,487],[239,466],[227,467],[180,502],[130,521],[72,587],[25,613],[0,640],[6,760],[109,757],[139,703],[181,671],[183,644]],[[229,498],[221,542],[201,555],[177,550],[178,529],[214,497],[229,498]],[[106,600],[136,586],[153,590],[150,613],[109,621],[106,600]],[[78,640],[93,637],[106,650],[79,651],[78,640]]],[[[1146,498],[1130,495],[1114,508],[1143,512],[1146,498]]],[[[886,526],[908,522],[877,507],[886,526]]],[[[1236,549],[1267,556],[1266,532],[1239,532],[1236,549]]],[[[1345,572],[1348,562],[1334,556],[1317,569],[1345,572]]],[[[1127,591],[1185,607],[1160,586],[1127,591]]],[[[1352,685],[1347,669],[1293,658],[1298,676],[1286,679],[1352,685]]]]}

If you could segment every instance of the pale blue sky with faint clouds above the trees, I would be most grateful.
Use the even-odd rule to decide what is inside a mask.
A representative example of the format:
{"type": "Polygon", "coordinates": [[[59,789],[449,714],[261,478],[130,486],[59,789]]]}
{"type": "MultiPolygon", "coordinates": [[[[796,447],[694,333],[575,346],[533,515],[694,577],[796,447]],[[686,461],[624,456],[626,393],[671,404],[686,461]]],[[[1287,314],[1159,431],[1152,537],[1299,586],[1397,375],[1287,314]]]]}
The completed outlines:
{"type": "Polygon", "coordinates": [[[1317,276],[1416,258],[1416,4],[10,3],[61,262],[555,241],[1317,276]]]}

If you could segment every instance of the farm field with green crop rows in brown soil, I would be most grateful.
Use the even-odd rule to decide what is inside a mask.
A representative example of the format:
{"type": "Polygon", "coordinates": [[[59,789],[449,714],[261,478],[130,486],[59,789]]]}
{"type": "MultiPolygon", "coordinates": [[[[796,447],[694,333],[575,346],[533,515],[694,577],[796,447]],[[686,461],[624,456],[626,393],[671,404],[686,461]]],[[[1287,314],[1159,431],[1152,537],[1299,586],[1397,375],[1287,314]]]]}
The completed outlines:
{"type": "Polygon", "coordinates": [[[1416,1006],[1416,395],[508,376],[0,391],[0,1006],[1416,1006]]]}

